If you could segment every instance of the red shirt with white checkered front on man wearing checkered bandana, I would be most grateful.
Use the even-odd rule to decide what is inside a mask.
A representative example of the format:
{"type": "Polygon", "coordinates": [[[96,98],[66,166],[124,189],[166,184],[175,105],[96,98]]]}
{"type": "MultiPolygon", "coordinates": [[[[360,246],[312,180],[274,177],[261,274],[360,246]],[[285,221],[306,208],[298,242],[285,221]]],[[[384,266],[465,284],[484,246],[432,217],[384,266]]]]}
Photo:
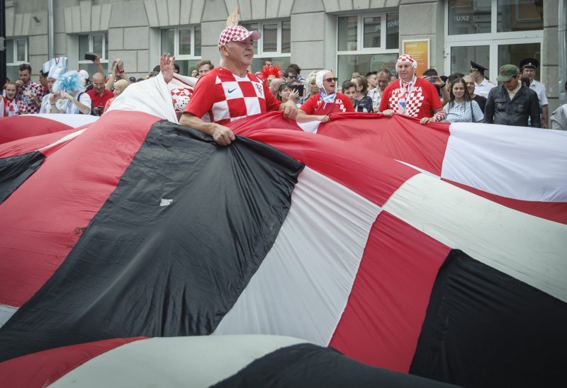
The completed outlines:
{"type": "Polygon", "coordinates": [[[435,110],[442,108],[439,93],[431,82],[417,78],[410,93],[400,89],[400,82],[395,81],[384,89],[378,108],[381,112],[391,109],[410,118],[431,118],[435,110]]]}

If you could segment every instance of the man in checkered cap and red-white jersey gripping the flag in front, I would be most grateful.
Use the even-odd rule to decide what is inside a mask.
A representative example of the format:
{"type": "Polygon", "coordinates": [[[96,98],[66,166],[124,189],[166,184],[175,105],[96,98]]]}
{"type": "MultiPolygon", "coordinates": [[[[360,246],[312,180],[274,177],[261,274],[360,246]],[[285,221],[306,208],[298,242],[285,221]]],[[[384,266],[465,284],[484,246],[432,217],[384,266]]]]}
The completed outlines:
{"type": "Polygon", "coordinates": [[[230,25],[223,30],[218,39],[220,67],[198,80],[179,124],[212,136],[220,145],[228,145],[235,139],[224,125],[228,122],[271,110],[283,110],[284,118],[296,118],[296,103],[277,101],[262,81],[248,72],[254,57],[252,40],[259,38],[259,31],[249,31],[242,25],[230,25]]]}

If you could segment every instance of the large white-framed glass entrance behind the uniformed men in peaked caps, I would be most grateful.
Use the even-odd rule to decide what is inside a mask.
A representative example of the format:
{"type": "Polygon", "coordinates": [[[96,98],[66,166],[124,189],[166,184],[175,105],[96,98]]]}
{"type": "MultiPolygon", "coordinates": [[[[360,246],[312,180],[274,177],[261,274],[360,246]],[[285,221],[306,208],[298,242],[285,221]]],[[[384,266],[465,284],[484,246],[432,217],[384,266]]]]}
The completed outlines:
{"type": "MultiPolygon", "coordinates": [[[[497,74],[503,64],[539,59],[544,41],[543,6],[537,0],[449,0],[445,69],[467,74],[473,60],[497,74]]],[[[539,79],[539,72],[536,74],[539,79]]]]}

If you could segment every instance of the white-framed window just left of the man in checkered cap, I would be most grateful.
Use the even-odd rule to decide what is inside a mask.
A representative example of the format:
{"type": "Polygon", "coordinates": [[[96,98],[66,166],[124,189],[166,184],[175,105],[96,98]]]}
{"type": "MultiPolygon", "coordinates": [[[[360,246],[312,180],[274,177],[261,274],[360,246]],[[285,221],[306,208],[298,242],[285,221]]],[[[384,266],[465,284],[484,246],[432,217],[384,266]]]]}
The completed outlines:
{"type": "Polygon", "coordinates": [[[163,28],[161,33],[160,52],[175,55],[179,74],[191,75],[191,69],[201,60],[201,26],[163,28]]]}

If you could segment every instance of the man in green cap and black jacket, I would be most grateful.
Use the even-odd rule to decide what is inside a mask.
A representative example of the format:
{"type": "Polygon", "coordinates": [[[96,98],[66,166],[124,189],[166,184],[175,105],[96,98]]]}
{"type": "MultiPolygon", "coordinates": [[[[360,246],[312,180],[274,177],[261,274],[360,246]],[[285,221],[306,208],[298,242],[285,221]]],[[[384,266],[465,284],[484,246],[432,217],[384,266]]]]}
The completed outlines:
{"type": "Polygon", "coordinates": [[[522,85],[520,69],[513,64],[505,64],[500,67],[496,80],[502,85],[488,93],[484,122],[527,127],[530,119],[532,127],[541,128],[537,94],[522,85]]]}

